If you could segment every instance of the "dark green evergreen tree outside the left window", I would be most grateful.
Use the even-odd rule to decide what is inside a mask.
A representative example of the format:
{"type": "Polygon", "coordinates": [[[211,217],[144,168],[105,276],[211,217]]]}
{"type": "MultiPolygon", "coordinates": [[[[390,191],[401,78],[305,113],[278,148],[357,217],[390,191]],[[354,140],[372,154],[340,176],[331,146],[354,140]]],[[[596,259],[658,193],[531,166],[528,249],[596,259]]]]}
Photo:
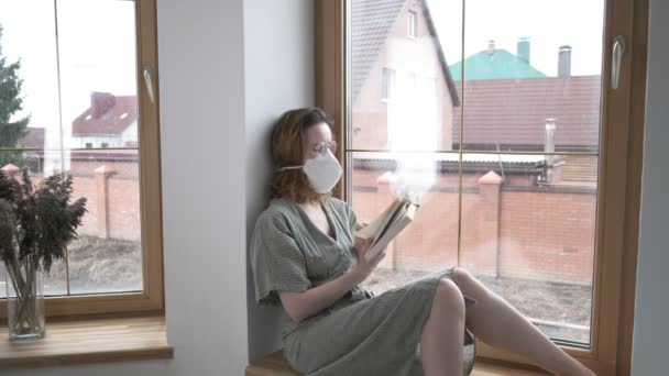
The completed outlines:
{"type": "MultiPolygon", "coordinates": [[[[23,110],[21,86],[19,78],[21,59],[8,64],[2,55],[2,25],[0,25],[0,147],[17,147],[19,140],[28,133],[30,117],[14,119],[14,114],[23,110]]],[[[8,163],[23,166],[23,153],[0,151],[0,167],[8,163]]]]}

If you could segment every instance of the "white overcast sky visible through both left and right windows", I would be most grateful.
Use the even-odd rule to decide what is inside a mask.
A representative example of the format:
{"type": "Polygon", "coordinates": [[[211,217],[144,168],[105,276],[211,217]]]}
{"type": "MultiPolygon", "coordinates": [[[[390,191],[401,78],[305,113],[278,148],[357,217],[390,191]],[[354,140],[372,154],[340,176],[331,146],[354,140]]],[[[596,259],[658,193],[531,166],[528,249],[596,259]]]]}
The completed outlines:
{"type": "MultiPolygon", "coordinates": [[[[545,74],[557,74],[558,48],[564,44],[572,46],[573,75],[600,74],[604,0],[465,1],[465,56],[485,49],[490,40],[515,54],[517,38],[528,36],[530,64],[545,74]]],[[[462,56],[462,1],[428,3],[452,65],[462,56]]],[[[57,0],[57,7],[62,110],[69,133],[72,121],[88,108],[91,91],[136,92],[134,8],[122,0],[57,0]]],[[[9,62],[22,60],[31,126],[57,128],[54,1],[0,0],[0,24],[3,54],[9,62]]]]}

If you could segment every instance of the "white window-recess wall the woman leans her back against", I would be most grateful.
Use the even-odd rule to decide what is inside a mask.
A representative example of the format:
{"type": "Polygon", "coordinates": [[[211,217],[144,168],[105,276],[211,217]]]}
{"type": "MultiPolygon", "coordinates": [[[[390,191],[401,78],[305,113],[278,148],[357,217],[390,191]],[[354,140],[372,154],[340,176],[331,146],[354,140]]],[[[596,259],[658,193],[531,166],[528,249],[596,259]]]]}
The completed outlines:
{"type": "MultiPolygon", "coordinates": [[[[286,110],[314,106],[314,1],[244,1],[246,96],[246,234],[266,207],[274,170],[271,130],[286,110]]],[[[249,354],[279,347],[278,311],[255,305],[248,275],[249,354]]]]}

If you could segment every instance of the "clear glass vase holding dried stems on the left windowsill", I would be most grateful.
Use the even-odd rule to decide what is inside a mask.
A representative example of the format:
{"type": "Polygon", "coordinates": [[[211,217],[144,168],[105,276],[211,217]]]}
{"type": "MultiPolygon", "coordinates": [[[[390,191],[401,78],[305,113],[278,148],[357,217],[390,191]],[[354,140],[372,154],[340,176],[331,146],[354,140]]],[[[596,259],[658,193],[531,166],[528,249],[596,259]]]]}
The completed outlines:
{"type": "Polygon", "coordinates": [[[7,319],[10,341],[44,336],[42,269],[32,257],[6,265],[7,319]]]}

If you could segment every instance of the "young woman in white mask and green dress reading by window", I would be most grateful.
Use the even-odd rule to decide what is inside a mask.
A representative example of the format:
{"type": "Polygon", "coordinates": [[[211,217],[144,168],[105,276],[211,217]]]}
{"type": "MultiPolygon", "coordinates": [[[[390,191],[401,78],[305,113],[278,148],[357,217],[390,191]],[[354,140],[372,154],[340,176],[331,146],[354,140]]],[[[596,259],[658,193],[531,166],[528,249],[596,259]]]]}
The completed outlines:
{"type": "Polygon", "coordinates": [[[594,375],[470,273],[452,267],[377,297],[355,213],[330,190],[341,177],[331,122],[284,113],[272,136],[275,198],[251,241],[255,296],[283,307],[284,354],[308,375],[467,375],[475,334],[556,375],[594,375]]]}

